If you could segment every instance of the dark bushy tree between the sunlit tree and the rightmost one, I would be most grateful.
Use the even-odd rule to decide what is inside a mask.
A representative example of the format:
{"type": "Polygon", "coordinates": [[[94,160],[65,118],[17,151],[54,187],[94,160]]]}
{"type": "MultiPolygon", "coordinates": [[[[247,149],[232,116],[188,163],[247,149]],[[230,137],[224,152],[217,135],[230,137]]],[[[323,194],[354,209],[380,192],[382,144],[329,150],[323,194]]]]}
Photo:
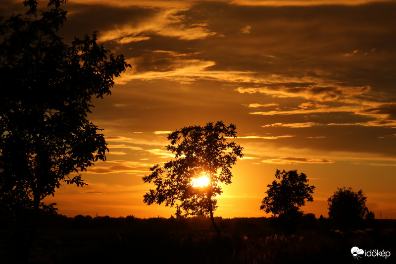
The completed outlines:
{"type": "Polygon", "coordinates": [[[286,220],[302,216],[303,213],[299,208],[305,205],[305,200],[313,201],[312,194],[315,186],[309,186],[306,175],[298,174],[297,170],[281,172],[277,169],[275,178],[278,180],[267,185],[267,197],[263,199],[260,210],[271,212],[274,216],[278,215],[286,220]]]}

